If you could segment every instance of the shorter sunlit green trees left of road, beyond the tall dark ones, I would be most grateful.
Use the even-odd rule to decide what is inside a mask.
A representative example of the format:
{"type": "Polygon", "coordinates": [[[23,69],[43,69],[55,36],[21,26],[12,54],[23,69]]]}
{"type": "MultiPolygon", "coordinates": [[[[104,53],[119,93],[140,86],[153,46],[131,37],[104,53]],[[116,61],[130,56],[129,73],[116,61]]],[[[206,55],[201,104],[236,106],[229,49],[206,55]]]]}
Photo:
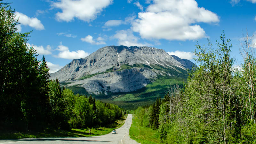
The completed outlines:
{"type": "Polygon", "coordinates": [[[124,110],[115,104],[95,101],[72,90],[60,89],[58,79],[49,82],[48,105],[49,123],[56,128],[85,128],[106,126],[124,115],[124,110]]]}

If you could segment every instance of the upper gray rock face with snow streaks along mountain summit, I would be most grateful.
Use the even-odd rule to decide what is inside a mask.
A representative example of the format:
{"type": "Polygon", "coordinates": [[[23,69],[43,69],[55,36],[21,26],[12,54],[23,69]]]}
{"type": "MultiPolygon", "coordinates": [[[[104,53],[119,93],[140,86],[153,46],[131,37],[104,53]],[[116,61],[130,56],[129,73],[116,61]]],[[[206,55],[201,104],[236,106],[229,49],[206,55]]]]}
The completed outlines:
{"type": "Polygon", "coordinates": [[[122,64],[133,65],[135,63],[148,66],[156,64],[173,69],[175,68],[172,66],[191,69],[193,65],[191,61],[169,55],[163,49],[136,46],[106,46],[85,58],[73,59],[65,67],[52,73],[50,78],[58,78],[60,82],[76,80],[88,74],[105,72],[106,69],[112,67],[119,68],[122,64]]]}

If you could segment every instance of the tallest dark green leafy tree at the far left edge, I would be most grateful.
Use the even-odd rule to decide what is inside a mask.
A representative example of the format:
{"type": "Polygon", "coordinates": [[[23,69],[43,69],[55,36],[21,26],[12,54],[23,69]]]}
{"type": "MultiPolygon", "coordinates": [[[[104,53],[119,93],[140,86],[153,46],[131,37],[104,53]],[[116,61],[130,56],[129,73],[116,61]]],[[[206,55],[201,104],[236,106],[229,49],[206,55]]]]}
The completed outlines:
{"type": "Polygon", "coordinates": [[[38,61],[26,46],[30,32],[16,32],[18,21],[7,3],[0,3],[0,120],[1,125],[33,128],[40,121],[38,61]],[[15,125],[15,126],[14,126],[15,125]]]}

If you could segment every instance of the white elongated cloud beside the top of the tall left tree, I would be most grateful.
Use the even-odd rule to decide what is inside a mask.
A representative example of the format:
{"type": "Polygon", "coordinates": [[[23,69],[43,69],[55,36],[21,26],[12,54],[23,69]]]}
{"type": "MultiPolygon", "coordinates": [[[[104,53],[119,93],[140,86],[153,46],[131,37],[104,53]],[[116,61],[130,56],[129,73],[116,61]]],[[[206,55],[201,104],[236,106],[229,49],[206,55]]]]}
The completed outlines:
{"type": "MultiPolygon", "coordinates": [[[[28,25],[30,27],[35,28],[36,30],[44,30],[44,25],[41,23],[41,21],[37,18],[30,18],[26,15],[24,15],[23,13],[20,12],[15,12],[14,15],[16,15],[16,19],[19,18],[19,23],[21,25],[28,25]]],[[[21,26],[17,26],[18,27],[18,32],[21,31],[21,26]]]]}

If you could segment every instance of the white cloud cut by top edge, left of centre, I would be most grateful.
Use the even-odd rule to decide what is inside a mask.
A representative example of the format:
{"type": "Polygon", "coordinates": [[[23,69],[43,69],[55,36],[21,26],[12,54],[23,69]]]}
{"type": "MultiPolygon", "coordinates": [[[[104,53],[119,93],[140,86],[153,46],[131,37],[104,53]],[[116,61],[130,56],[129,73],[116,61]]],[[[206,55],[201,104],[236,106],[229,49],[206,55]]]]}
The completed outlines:
{"type": "Polygon", "coordinates": [[[97,15],[112,4],[113,0],[61,0],[55,2],[52,7],[60,8],[62,12],[56,13],[59,21],[69,22],[74,18],[90,22],[97,18],[97,15]]]}

